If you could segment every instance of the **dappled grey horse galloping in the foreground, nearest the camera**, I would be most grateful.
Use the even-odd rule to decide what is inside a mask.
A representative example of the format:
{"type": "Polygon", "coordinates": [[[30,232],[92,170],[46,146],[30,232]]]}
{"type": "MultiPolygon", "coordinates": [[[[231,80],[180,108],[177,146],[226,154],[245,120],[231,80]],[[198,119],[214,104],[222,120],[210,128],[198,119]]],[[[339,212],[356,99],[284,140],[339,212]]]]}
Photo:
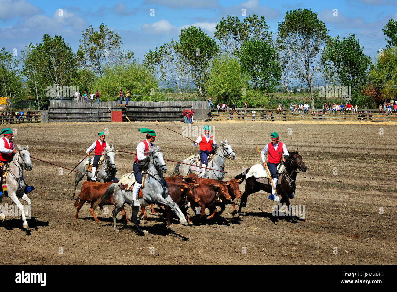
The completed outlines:
{"type": "MultiPolygon", "coordinates": [[[[161,152],[159,146],[150,147],[147,151],[148,157],[139,162],[139,168],[142,170],[142,174],[146,172],[145,187],[142,190],[142,198],[139,198],[139,206],[133,206],[133,214],[131,216],[131,221],[137,226],[139,232],[142,234],[142,230],[137,222],[137,215],[139,212],[139,207],[147,206],[150,204],[158,204],[170,207],[176,215],[179,217],[179,222],[187,226],[187,220],[185,215],[179,209],[178,205],[172,200],[168,193],[168,185],[163,178],[163,172],[167,171],[167,166],[164,162],[164,154],[161,152]]],[[[133,191],[121,190],[118,184],[111,184],[106,192],[96,200],[93,208],[95,209],[99,206],[102,200],[113,194],[114,210],[113,210],[113,229],[116,230],[116,216],[123,207],[124,203],[127,202],[131,204],[133,191]]]]}

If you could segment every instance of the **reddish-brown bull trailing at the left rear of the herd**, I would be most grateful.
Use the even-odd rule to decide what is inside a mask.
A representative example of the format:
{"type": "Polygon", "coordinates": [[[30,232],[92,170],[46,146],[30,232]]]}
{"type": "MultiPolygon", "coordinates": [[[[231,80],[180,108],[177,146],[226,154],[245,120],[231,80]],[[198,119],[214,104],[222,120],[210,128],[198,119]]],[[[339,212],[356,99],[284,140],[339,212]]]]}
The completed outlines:
{"type": "MultiPolygon", "coordinates": [[[[83,207],[85,202],[91,203],[91,207],[90,207],[90,213],[91,215],[93,215],[94,219],[96,222],[101,222],[100,220],[98,220],[98,218],[96,218],[95,216],[95,212],[93,209],[93,205],[95,203],[95,201],[97,199],[99,199],[106,191],[106,189],[108,188],[108,186],[110,186],[111,184],[114,184],[115,182],[105,182],[105,183],[101,183],[101,182],[83,182],[83,185],[81,186],[81,190],[79,193],[79,196],[77,197],[75,203],[73,204],[75,207],[77,207],[77,211],[76,211],[76,215],[75,215],[75,220],[78,219],[78,215],[79,215],[79,211],[81,209],[81,207],[83,207]]],[[[107,199],[104,199],[99,207],[102,210],[102,206],[104,205],[113,205],[113,194],[110,195],[109,197],[107,197],[107,199]]],[[[127,223],[130,222],[127,217],[125,216],[125,210],[124,207],[123,209],[121,209],[121,213],[122,213],[122,218],[124,218],[127,223]]]]}

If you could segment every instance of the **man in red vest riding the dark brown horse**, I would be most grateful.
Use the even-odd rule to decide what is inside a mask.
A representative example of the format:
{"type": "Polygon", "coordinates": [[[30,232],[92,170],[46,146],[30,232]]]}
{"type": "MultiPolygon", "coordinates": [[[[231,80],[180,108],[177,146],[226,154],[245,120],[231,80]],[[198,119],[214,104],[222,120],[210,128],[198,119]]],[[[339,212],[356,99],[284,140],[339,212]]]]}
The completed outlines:
{"type": "Polygon", "coordinates": [[[262,157],[263,167],[266,167],[265,154],[268,153],[268,170],[272,176],[274,188],[276,188],[274,189],[272,186],[272,194],[269,195],[269,199],[278,202],[279,197],[276,196],[278,181],[277,169],[281,161],[285,162],[285,159],[288,157],[289,153],[287,151],[287,146],[285,146],[284,143],[279,142],[278,133],[273,132],[270,134],[270,137],[272,137],[272,142],[265,146],[265,148],[261,151],[260,156],[262,157]]]}

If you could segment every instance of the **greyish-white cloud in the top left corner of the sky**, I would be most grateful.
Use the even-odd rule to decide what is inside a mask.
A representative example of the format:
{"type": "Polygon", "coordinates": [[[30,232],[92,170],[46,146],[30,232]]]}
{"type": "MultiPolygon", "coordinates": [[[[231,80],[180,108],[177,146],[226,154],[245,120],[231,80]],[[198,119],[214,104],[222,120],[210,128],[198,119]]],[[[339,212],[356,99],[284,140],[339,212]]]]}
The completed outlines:
{"type": "Polygon", "coordinates": [[[29,16],[40,11],[26,0],[0,0],[0,19],[6,20],[13,17],[29,16]]]}

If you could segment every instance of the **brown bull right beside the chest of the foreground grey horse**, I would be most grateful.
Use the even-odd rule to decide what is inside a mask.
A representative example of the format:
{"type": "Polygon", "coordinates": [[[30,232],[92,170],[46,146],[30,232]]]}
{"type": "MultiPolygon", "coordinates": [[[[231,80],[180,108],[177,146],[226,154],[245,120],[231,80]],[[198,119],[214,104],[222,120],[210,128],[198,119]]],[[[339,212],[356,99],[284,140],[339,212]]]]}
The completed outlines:
{"type": "MultiPolygon", "coordinates": [[[[174,201],[179,209],[181,209],[182,213],[185,215],[185,218],[189,225],[193,225],[193,222],[187,216],[187,202],[197,203],[200,201],[200,198],[197,196],[197,189],[200,184],[173,184],[168,183],[168,193],[170,194],[172,201],[174,201]]],[[[167,210],[167,225],[171,226],[170,218],[172,216],[172,210],[170,207],[166,207],[167,210]]]]}

